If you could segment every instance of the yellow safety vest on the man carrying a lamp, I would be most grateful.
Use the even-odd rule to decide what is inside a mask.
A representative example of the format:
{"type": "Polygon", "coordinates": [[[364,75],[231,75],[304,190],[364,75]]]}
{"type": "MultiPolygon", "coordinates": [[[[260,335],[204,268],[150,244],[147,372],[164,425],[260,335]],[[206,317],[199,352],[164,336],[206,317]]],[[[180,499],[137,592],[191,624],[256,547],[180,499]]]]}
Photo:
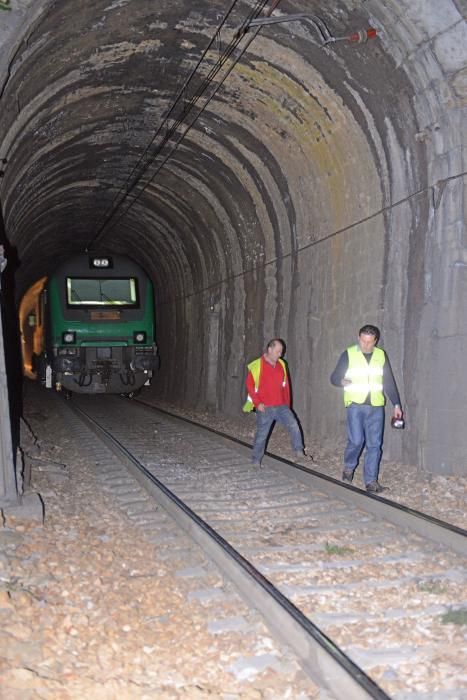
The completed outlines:
{"type": "Polygon", "coordinates": [[[344,386],[344,405],[351,403],[365,403],[370,394],[372,406],[384,406],[383,372],[386,355],[380,348],[374,348],[370,362],[359,345],[347,348],[349,368],[345,373],[345,379],[350,379],[352,384],[344,386]]]}

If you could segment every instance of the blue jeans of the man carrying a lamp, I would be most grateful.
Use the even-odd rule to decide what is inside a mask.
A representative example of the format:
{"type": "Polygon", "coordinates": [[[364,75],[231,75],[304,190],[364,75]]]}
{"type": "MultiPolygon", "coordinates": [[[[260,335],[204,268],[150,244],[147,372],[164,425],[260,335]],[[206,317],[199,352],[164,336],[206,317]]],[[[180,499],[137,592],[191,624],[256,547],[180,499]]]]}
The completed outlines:
{"type": "Polygon", "coordinates": [[[352,472],[355,470],[363,446],[366,445],[363,464],[365,485],[378,481],[383,428],[383,406],[352,403],[347,408],[347,447],[344,453],[344,468],[352,472]]]}

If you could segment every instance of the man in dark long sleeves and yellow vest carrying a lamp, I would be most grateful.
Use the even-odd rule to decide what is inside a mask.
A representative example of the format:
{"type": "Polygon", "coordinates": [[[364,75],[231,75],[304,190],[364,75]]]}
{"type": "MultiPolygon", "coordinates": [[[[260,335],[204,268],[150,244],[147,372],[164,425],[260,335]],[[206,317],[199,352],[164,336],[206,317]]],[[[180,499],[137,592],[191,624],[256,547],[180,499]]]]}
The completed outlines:
{"type": "Polygon", "coordinates": [[[383,444],[385,394],[394,406],[394,418],[402,419],[402,408],[391,365],[376,345],[379,329],[367,324],[360,328],[358,343],[339,358],[331,375],[334,386],[344,387],[347,413],[347,447],[342,480],[351,482],[364,445],[363,480],[368,493],[380,493],[379,463],[383,444]]]}

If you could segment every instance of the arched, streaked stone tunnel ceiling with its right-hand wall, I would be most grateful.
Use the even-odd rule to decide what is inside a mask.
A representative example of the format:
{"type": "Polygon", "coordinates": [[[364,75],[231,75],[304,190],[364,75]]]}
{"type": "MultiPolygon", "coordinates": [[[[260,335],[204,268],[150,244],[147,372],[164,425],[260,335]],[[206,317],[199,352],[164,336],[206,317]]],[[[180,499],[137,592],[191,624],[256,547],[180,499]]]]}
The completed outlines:
{"type": "MultiPolygon", "coordinates": [[[[20,294],[98,230],[230,5],[12,0],[0,200],[20,294]]],[[[373,321],[408,418],[389,454],[467,473],[465,2],[282,0],[274,16],[301,12],[378,36],[323,48],[309,22],[264,27],[99,245],[155,281],[162,395],[237,413],[245,360],[280,335],[305,432],[334,439],[328,376],[373,321]]]]}

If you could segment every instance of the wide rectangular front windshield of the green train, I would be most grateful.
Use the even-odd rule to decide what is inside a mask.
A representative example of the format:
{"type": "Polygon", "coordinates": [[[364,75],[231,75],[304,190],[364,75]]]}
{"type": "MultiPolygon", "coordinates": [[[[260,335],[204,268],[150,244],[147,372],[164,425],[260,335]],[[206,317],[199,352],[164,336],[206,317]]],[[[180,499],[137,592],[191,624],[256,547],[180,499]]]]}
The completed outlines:
{"type": "Polygon", "coordinates": [[[67,277],[68,306],[137,306],[135,277],[67,277]]]}

